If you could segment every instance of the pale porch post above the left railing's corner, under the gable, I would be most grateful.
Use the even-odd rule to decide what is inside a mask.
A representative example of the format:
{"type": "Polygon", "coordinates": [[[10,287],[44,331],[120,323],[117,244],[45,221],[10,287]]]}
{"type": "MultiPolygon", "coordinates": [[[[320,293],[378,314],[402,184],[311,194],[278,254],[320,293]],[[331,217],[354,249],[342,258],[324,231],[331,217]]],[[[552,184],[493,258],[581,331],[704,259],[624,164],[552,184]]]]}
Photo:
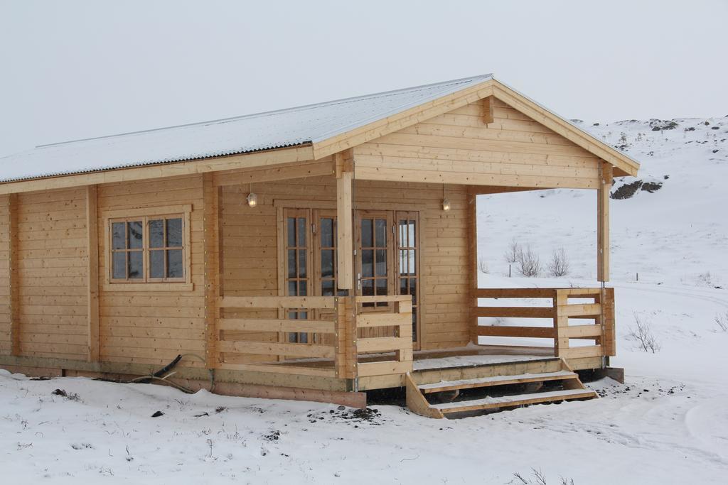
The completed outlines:
{"type": "Polygon", "coordinates": [[[354,159],[351,151],[334,153],[336,170],[336,243],[338,244],[337,270],[339,288],[354,288],[354,236],[352,199],[354,159]]]}

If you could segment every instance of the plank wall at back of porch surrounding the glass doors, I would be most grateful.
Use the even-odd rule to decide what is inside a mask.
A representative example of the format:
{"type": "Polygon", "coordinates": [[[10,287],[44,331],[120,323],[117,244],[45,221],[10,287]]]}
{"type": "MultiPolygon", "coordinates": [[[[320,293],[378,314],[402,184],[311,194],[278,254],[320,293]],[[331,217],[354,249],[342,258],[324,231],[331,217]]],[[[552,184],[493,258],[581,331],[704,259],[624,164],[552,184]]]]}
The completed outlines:
{"type": "MultiPolygon", "coordinates": [[[[277,208],[274,201],[334,204],[336,179],[311,177],[253,184],[258,207],[245,204],[248,185],[223,187],[223,286],[226,296],[278,294],[277,208]]],[[[374,183],[355,180],[355,209],[420,210],[422,239],[422,348],[447,348],[468,342],[469,266],[467,192],[446,188],[451,210],[444,212],[443,185],[374,183]]],[[[292,204],[295,206],[295,204],[292,204]]],[[[282,264],[282,263],[281,263],[282,264]]],[[[257,315],[258,318],[266,315],[257,315]]],[[[275,315],[267,315],[275,318],[275,315]]],[[[250,340],[274,341],[277,335],[249,334],[250,340]]],[[[252,356],[250,357],[252,359],[252,356]]]]}

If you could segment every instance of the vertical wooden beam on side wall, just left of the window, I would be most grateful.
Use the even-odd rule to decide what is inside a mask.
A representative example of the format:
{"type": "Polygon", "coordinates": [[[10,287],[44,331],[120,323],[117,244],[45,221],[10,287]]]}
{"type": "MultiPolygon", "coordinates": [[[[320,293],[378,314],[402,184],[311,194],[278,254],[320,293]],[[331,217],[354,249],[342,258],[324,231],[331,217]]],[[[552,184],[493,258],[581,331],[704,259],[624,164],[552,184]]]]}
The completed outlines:
{"type": "Polygon", "coordinates": [[[88,252],[88,356],[89,362],[99,360],[98,310],[98,191],[96,185],[86,186],[86,233],[88,252]]]}

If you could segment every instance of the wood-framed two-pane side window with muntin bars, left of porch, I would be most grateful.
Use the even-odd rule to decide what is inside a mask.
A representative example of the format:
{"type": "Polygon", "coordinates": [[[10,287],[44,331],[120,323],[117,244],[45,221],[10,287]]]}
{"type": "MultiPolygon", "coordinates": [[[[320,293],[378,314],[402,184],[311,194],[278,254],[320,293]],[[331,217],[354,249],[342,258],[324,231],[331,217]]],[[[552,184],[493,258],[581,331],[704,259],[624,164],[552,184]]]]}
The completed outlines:
{"type": "Polygon", "coordinates": [[[122,284],[143,284],[148,289],[154,284],[190,284],[187,253],[191,207],[175,209],[183,212],[155,214],[154,209],[135,209],[128,217],[108,217],[122,211],[107,215],[107,283],[116,289],[122,289],[122,284]]]}

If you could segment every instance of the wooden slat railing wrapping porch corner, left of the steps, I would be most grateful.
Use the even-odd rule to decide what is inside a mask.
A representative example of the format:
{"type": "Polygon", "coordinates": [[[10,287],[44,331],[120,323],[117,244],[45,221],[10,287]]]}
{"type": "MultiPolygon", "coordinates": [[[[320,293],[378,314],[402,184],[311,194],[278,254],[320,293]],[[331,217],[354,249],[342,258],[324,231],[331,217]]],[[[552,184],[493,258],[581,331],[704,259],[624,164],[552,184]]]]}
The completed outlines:
{"type": "Polygon", "coordinates": [[[216,322],[215,353],[219,369],[277,372],[355,379],[357,376],[403,374],[412,370],[412,300],[409,295],[379,297],[221,297],[218,307],[232,313],[285,315],[290,310],[328,319],[229,317],[216,322]],[[387,302],[393,311],[363,311],[363,304],[387,302]],[[316,310],[316,311],[314,311],[316,310]],[[362,332],[357,332],[362,329],[362,332]],[[385,330],[369,332],[368,330],[385,330]],[[306,343],[258,341],[251,333],[309,333],[306,343]],[[379,335],[375,335],[379,334],[379,335]],[[394,352],[389,361],[359,362],[368,353],[394,352]],[[241,364],[246,356],[262,361],[241,364]],[[305,359],[301,361],[301,359],[305,359]]]}

